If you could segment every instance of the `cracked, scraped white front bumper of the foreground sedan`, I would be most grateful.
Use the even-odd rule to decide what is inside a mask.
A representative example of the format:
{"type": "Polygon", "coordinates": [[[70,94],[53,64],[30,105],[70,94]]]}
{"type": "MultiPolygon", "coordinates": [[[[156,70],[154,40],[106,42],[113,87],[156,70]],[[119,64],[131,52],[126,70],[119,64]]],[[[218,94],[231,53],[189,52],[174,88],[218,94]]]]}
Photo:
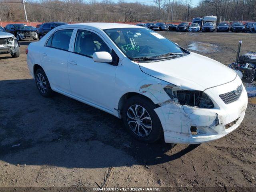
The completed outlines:
{"type": "Polygon", "coordinates": [[[163,102],[155,108],[164,130],[166,143],[199,144],[219,139],[235,130],[242,122],[247,108],[247,93],[242,86],[238,100],[225,104],[220,94],[232,92],[241,84],[234,81],[206,89],[214,101],[214,108],[198,108],[180,105],[177,102],[163,102]]]}

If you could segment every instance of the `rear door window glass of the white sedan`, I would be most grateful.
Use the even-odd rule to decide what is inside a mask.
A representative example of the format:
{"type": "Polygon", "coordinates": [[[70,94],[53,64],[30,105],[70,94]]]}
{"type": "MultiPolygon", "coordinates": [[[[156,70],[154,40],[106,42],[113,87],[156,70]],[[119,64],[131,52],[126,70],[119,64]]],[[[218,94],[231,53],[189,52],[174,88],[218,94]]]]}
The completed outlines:
{"type": "Polygon", "coordinates": [[[73,29],[56,31],[46,43],[46,46],[68,51],[73,29]]]}

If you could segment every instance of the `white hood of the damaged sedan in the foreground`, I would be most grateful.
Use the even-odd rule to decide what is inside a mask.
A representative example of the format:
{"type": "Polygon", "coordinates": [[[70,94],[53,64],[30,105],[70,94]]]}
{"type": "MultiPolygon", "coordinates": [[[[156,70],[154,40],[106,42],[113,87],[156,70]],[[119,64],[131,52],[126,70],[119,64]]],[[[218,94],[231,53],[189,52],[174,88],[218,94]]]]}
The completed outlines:
{"type": "Polygon", "coordinates": [[[200,90],[226,84],[236,72],[224,64],[191,52],[187,56],[158,62],[140,62],[140,69],[184,90],[200,90]]]}

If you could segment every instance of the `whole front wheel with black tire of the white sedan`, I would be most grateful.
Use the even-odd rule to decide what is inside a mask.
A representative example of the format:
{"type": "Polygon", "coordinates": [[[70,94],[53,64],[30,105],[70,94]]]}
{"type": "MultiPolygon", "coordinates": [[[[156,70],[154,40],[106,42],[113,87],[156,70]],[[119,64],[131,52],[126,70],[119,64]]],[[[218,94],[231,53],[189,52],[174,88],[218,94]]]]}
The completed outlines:
{"type": "Polygon", "coordinates": [[[163,129],[155,104],[142,96],[126,101],[122,110],[124,126],[137,140],[153,143],[163,136],[163,129]]]}

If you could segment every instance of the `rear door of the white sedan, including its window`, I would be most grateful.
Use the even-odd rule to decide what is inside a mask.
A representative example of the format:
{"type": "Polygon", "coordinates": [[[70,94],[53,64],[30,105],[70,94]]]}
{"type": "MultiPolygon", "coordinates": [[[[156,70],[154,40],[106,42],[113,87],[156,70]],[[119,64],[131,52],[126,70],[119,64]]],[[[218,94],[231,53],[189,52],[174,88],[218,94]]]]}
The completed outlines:
{"type": "Polygon", "coordinates": [[[70,93],[67,62],[73,31],[73,28],[57,30],[41,50],[41,63],[51,86],[66,93],[70,93]]]}

